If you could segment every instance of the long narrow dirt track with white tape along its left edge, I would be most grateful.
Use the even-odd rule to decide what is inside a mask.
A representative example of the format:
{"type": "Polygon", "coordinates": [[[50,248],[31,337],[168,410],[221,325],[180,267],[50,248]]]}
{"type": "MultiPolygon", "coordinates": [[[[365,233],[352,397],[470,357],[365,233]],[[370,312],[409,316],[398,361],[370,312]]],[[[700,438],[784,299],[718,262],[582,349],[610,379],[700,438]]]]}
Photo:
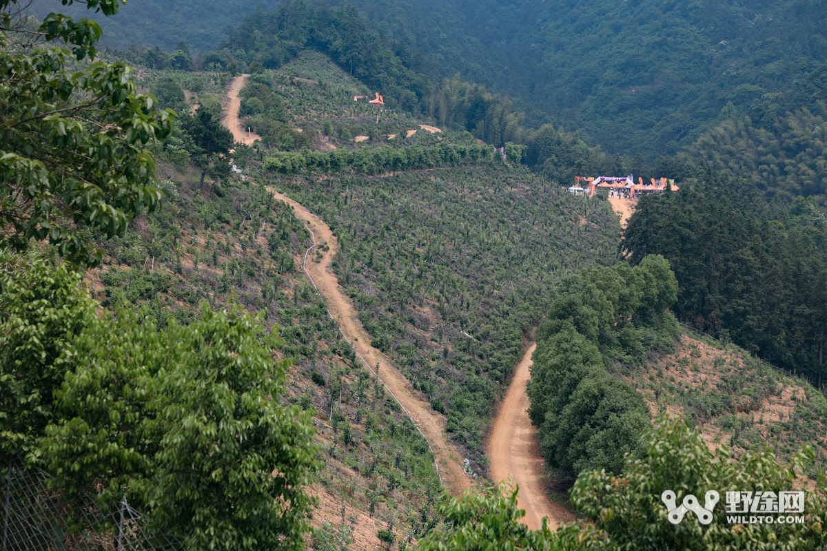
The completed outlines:
{"type": "Polygon", "coordinates": [[[327,227],[327,224],[299,205],[298,202],[274,190],[270,191],[273,192],[276,199],[280,199],[293,207],[294,214],[313,232],[319,245],[327,243],[330,250],[324,253],[321,262],[316,263],[313,260],[316,249],[313,249],[311,254],[306,255],[308,257],[306,266],[310,277],[313,278],[313,283],[316,284],[318,291],[324,298],[324,302],[327,302],[327,309],[338,322],[339,327],[342,328],[342,332],[351,341],[356,352],[365,359],[370,369],[374,370],[376,364],[379,363],[379,377],[385,382],[385,387],[394,394],[399,403],[409,412],[409,415],[419,426],[419,430],[423,432],[423,435],[431,444],[433,454],[437,457],[442,482],[451,491],[452,496],[459,496],[473,485],[471,478],[462,471],[463,457],[447,439],[444,428],[445,421],[442,416],[431,409],[421,392],[414,391],[414,387],[411,386],[408,379],[404,378],[404,375],[399,373],[393,363],[385,358],[385,354],[368,344],[370,343],[370,336],[362,327],[358,316],[356,316],[356,308],[353,306],[350,297],[347,297],[347,294],[342,291],[342,287],[339,287],[337,277],[329,268],[333,256],[339,249],[336,237],[327,227]]]}

